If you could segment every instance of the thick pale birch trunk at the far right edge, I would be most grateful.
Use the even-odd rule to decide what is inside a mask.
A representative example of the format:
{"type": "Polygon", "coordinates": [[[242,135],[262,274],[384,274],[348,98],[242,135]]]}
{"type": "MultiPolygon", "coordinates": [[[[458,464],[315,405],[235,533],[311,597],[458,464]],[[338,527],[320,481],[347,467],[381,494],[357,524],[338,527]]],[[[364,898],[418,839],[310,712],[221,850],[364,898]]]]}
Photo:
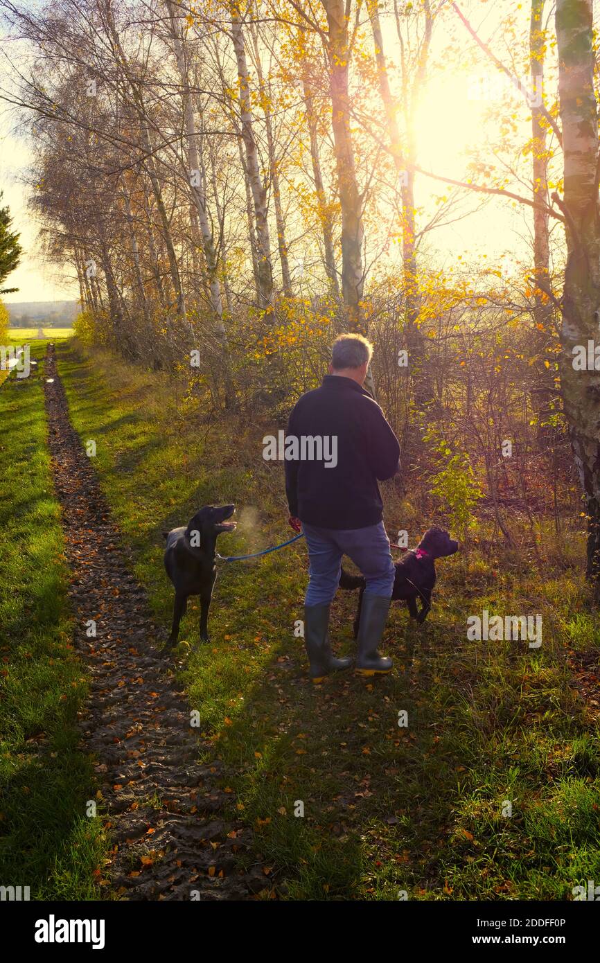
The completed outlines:
{"type": "Polygon", "coordinates": [[[567,261],[561,329],[561,389],[587,500],[587,577],[600,582],[600,372],[578,371],[572,349],[597,343],[600,318],[598,117],[591,0],[558,0],[559,95],[564,153],[567,261]]]}

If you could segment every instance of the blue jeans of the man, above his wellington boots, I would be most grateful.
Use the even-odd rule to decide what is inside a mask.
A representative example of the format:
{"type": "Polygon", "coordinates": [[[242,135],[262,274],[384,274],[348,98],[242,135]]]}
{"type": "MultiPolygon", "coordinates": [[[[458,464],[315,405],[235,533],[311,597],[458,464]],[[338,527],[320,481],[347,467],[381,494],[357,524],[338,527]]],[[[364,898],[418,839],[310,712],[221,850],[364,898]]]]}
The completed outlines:
{"type": "Polygon", "coordinates": [[[321,529],[302,522],[302,530],[308,547],[309,575],[304,605],[329,604],[340,581],[344,555],[364,575],[367,594],[392,597],[396,569],[383,522],[364,529],[321,529]]]}

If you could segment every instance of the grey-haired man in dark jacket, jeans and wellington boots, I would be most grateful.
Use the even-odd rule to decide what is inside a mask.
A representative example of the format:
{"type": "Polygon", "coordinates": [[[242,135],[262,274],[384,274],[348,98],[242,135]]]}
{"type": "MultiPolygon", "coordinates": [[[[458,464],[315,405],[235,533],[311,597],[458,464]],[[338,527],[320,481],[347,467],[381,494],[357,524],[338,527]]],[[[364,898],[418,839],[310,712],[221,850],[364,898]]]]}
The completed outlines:
{"type": "MultiPolygon", "coordinates": [[[[350,668],[352,659],[331,654],[327,626],[329,606],[348,555],[365,577],[358,629],[356,670],[385,674],[392,660],[378,653],[392,596],[395,569],[381,521],[378,481],[398,471],[400,445],[378,403],[362,387],[373,348],[359,334],[342,334],[331,351],[323,385],[302,395],[290,415],[287,436],[299,439],[297,450],[321,440],[329,458],[286,460],[285,481],[290,524],[306,536],[309,582],[304,599],[304,644],[313,682],[350,668]],[[331,454],[335,453],[335,457],[331,454]]],[[[286,438],[286,445],[287,440],[286,438]]],[[[318,447],[317,447],[318,451],[318,447]]],[[[286,456],[287,457],[287,456],[286,456]]]]}

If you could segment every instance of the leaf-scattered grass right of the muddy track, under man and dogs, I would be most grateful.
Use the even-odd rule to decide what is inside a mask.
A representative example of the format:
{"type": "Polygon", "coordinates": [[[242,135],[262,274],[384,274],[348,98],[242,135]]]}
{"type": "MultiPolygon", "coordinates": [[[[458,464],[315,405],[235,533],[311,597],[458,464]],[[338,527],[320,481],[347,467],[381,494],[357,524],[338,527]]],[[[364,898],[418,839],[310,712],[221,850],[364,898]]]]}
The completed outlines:
{"type": "MultiPolygon", "coordinates": [[[[58,351],[75,427],[96,441],[136,574],[167,624],[164,529],[202,504],[234,501],[241,525],[222,537],[222,554],[287,534],[281,466],[263,461],[260,443],[281,426],[211,421],[162,376],[76,344],[58,351]]],[[[387,497],[390,527],[402,518],[424,528],[391,489],[387,497]]],[[[290,898],[569,899],[573,886],[600,878],[600,746],[567,659],[569,649],[597,650],[600,621],[579,564],[581,534],[557,544],[539,528],[543,568],[525,550],[472,546],[440,563],[423,627],[393,607],[382,650],[396,671],[373,685],[349,674],[323,689],[308,683],[294,633],[301,542],[222,568],[208,646],[196,645],[192,607],[181,635],[191,648],[179,649],[191,705],[225,763],[233,813],[253,827],[290,898]],[[467,615],[484,608],[541,612],[541,649],[467,641],[467,615]]],[[[343,594],[334,605],[344,652],[354,605],[343,594]]]]}

